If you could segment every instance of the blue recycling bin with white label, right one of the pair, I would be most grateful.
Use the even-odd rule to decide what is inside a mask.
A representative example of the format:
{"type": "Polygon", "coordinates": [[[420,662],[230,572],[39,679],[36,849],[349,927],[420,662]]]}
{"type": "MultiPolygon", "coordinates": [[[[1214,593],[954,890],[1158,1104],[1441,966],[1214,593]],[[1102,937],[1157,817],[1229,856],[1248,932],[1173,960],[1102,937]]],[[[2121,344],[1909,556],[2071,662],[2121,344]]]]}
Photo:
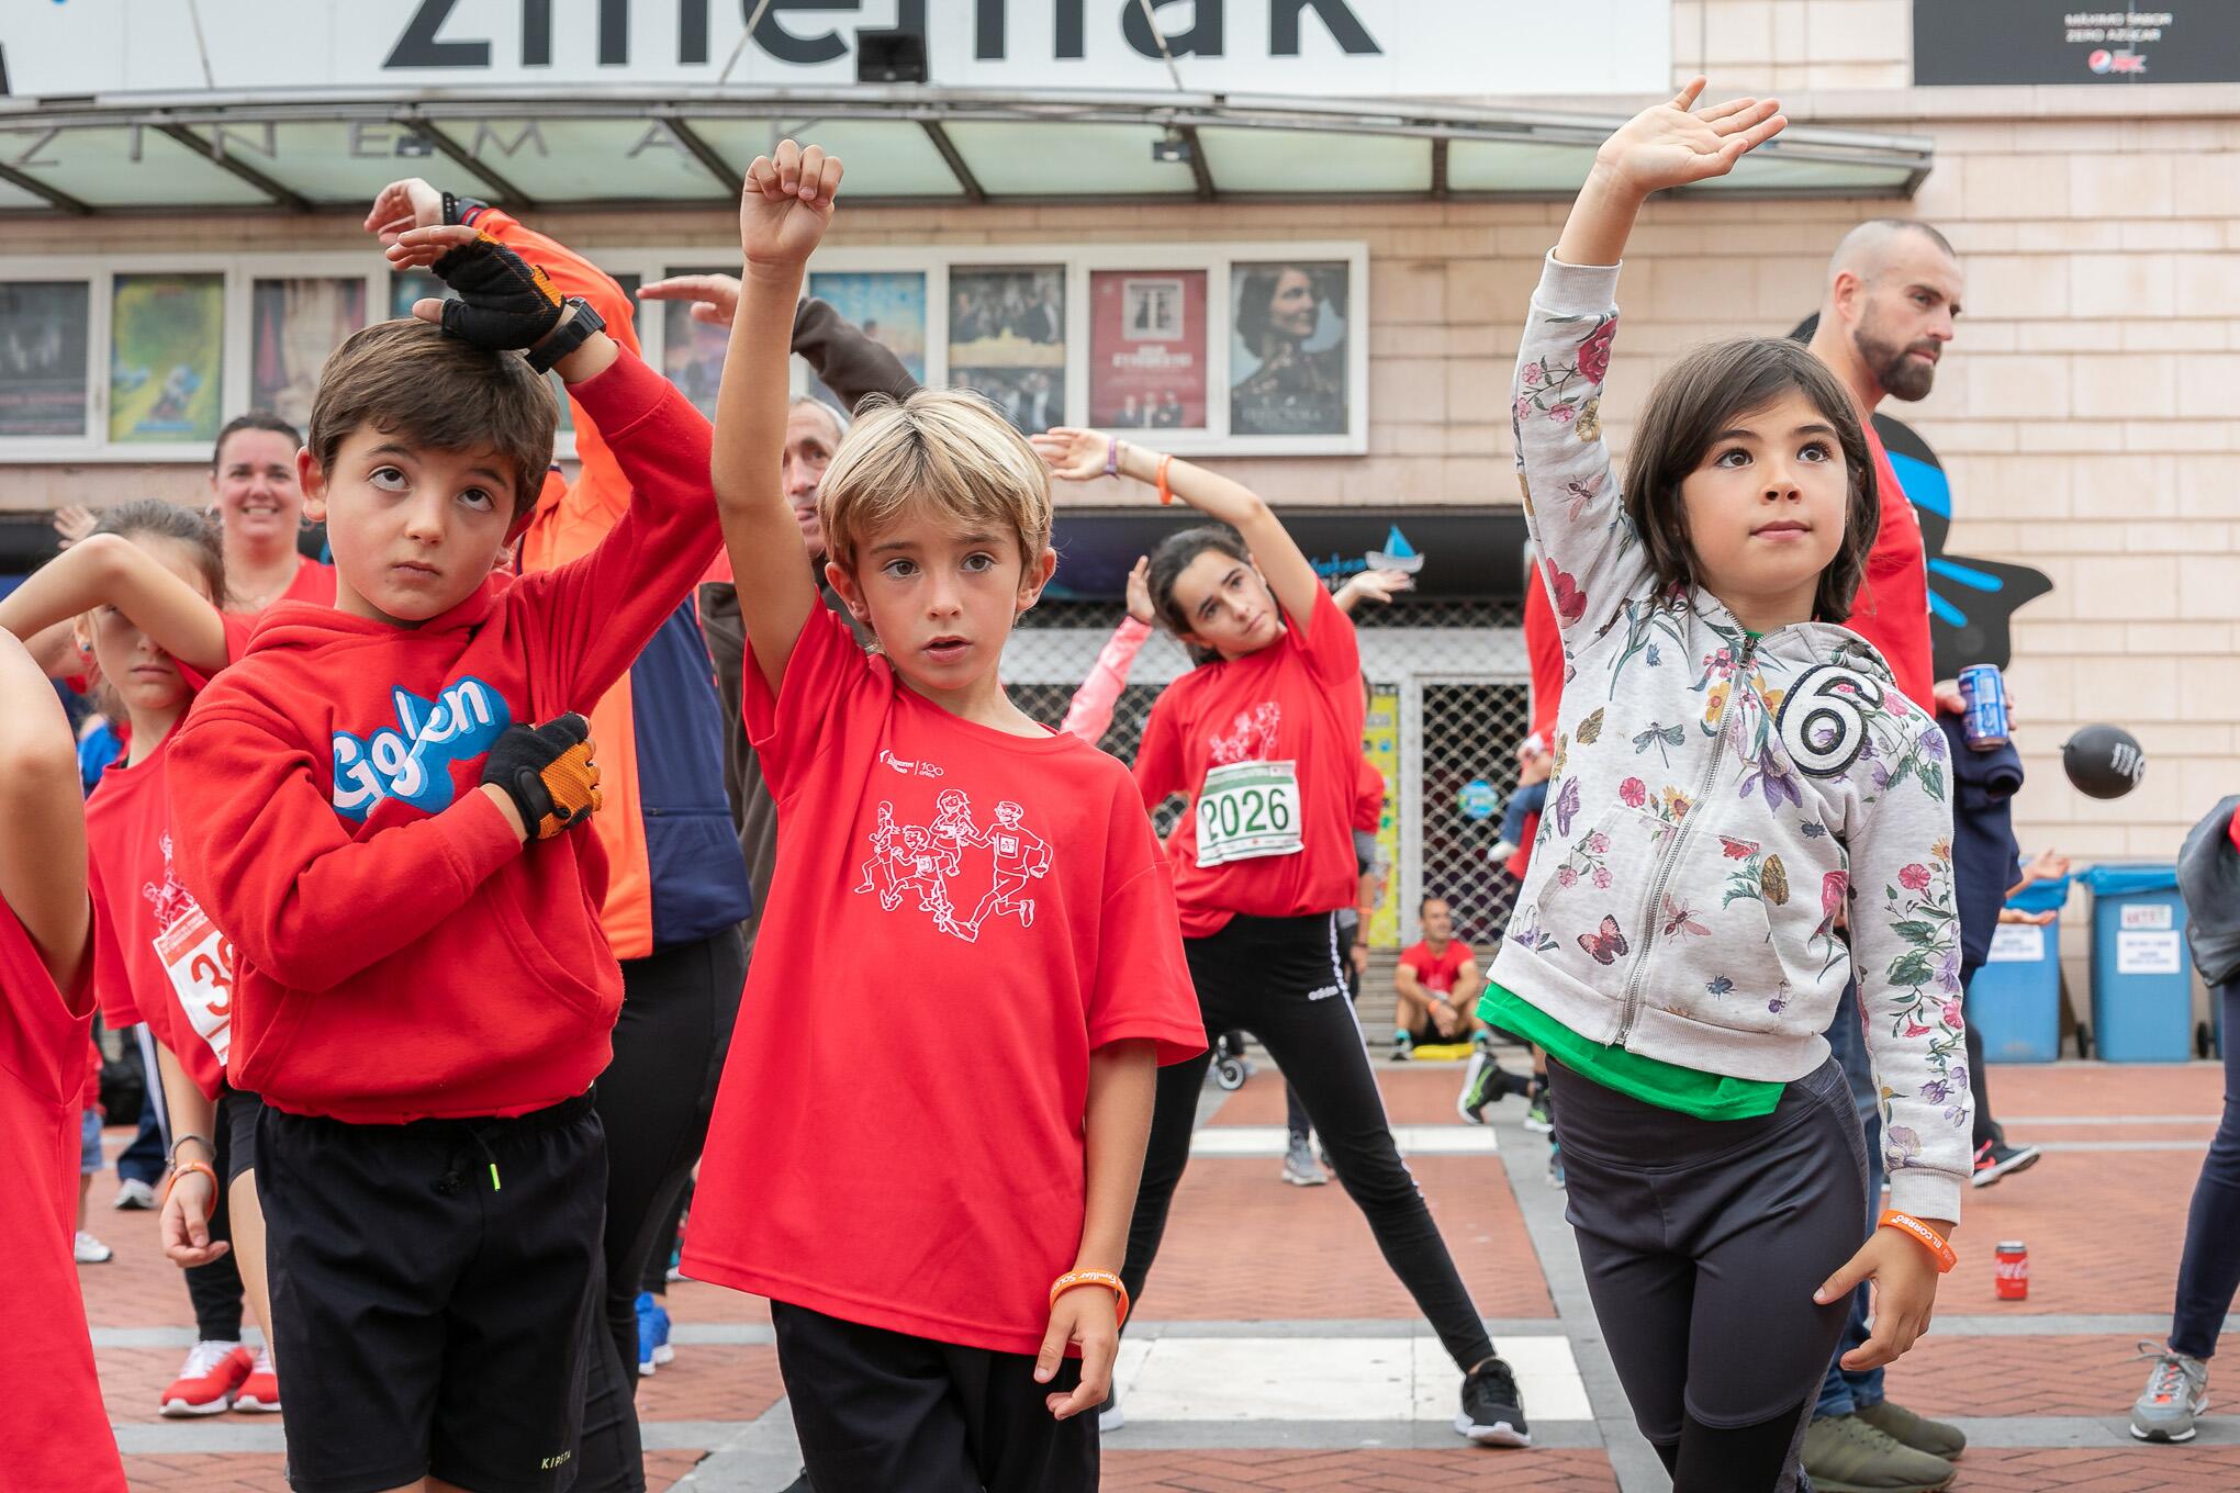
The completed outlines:
{"type": "Polygon", "coordinates": [[[2092,889],[2092,1041],[2110,1063],[2193,1057],[2193,956],[2177,866],[2085,871],[2092,889]]]}

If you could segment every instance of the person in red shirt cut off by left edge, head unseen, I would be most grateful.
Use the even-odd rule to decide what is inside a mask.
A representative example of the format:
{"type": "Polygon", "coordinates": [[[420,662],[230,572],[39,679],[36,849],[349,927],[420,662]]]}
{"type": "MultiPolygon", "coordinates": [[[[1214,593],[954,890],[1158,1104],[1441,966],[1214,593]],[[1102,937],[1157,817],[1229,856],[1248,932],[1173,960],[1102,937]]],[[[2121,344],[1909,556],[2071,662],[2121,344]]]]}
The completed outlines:
{"type": "Polygon", "coordinates": [[[54,687],[0,631],[0,1249],[9,1352],[0,1395],[11,1493],[123,1493],[85,1332],[72,1220],[94,989],[78,752],[54,687]]]}

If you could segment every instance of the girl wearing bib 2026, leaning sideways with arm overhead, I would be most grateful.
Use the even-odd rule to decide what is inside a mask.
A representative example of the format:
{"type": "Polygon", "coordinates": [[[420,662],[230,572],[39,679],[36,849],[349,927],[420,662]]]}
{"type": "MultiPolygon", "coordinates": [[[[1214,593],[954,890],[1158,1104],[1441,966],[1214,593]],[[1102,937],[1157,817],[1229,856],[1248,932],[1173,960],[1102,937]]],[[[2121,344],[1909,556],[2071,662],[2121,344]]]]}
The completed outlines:
{"type": "MultiPolygon", "coordinates": [[[[1095,430],[1033,441],[1064,479],[1136,477],[1214,519],[1169,535],[1151,557],[1154,609],[1201,667],[1151,707],[1136,754],[1145,808],[1189,797],[1167,857],[1205,1030],[1257,1034],[1299,1092],[1337,1180],[1465,1374],[1454,1428],[1525,1446],[1516,1379],[1400,1162],[1346,1001],[1335,913],[1360,895],[1351,830],[1366,714],[1353,622],[1248,488],[1095,430]]],[[[1158,1074],[1122,1269],[1131,1296],[1189,1162],[1205,1063],[1198,1054],[1158,1074]]]]}

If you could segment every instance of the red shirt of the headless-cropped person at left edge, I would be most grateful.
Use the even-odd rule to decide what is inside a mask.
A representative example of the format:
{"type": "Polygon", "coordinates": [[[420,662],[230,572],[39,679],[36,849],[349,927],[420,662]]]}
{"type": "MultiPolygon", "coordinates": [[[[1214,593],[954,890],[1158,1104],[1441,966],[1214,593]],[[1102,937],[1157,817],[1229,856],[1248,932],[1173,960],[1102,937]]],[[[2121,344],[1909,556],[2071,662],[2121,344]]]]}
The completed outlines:
{"type": "Polygon", "coordinates": [[[9,1352],[22,1372],[0,1395],[9,1489],[123,1493],[116,1437],[101,1408],[69,1236],[78,1218],[78,1112],[94,994],[63,994],[16,913],[0,907],[0,1251],[7,1253],[9,1352]]]}

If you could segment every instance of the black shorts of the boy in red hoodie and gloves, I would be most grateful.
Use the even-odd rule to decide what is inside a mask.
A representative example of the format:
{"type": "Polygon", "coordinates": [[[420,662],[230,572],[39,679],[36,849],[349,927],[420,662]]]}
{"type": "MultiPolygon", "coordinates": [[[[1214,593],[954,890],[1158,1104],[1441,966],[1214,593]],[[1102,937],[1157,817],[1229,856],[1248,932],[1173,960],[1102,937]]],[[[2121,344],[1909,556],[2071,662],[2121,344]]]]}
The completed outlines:
{"type": "Polygon", "coordinates": [[[296,1493],[573,1482],[607,1198],[589,1095],[408,1126],[267,1108],[258,1198],[296,1493]]]}

